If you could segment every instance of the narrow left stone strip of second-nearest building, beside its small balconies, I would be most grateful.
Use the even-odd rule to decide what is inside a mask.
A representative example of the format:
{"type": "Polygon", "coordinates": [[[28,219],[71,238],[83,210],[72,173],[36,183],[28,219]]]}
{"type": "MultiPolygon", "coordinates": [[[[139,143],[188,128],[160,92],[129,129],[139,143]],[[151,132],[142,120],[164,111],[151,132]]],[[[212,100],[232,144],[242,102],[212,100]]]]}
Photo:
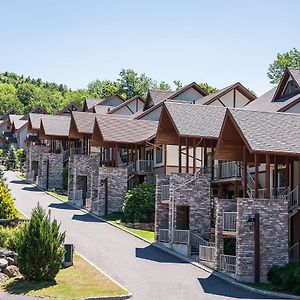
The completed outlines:
{"type": "Polygon", "coordinates": [[[158,241],[159,229],[169,228],[169,203],[161,203],[161,193],[163,185],[170,185],[170,176],[156,175],[154,216],[155,241],[158,241]]]}

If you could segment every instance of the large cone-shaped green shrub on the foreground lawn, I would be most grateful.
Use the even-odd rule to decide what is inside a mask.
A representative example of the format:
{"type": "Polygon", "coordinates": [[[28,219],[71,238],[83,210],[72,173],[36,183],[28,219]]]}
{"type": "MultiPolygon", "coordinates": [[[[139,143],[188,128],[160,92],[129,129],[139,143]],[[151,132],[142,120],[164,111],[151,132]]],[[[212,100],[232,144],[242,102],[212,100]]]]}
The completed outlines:
{"type": "Polygon", "coordinates": [[[64,259],[65,232],[38,204],[29,223],[18,231],[16,250],[20,272],[29,281],[51,281],[64,259]]]}

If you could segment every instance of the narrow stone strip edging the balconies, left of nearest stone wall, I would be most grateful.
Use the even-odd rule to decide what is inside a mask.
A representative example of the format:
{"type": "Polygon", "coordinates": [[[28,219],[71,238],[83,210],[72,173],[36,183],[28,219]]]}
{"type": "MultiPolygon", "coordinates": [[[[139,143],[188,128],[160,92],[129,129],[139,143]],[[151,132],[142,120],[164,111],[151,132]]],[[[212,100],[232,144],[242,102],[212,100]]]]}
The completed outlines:
{"type": "Polygon", "coordinates": [[[215,223],[215,268],[220,268],[220,254],[224,250],[223,236],[223,212],[236,212],[237,204],[233,199],[216,199],[216,223],[215,223]]]}

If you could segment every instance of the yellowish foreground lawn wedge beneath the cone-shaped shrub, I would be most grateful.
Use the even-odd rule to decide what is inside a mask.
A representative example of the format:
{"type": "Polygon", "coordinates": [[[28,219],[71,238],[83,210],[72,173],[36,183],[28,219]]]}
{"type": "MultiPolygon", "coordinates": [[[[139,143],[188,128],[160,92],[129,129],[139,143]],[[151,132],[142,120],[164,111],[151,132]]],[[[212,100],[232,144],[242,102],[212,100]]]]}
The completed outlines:
{"type": "Polygon", "coordinates": [[[60,270],[55,281],[35,283],[22,279],[10,279],[0,287],[0,291],[56,300],[79,300],[93,296],[127,294],[126,290],[96,270],[76,253],[74,266],[60,270]]]}

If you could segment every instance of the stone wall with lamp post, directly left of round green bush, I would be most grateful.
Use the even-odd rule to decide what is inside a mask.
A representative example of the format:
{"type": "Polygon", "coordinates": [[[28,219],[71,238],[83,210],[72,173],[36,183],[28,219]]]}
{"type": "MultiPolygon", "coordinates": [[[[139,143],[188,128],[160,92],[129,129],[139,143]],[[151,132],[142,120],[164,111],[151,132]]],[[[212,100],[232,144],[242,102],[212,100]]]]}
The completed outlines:
{"type": "Polygon", "coordinates": [[[98,215],[105,214],[105,186],[101,185],[101,180],[107,178],[108,185],[108,213],[120,212],[123,207],[125,194],[127,192],[127,168],[120,167],[100,167],[98,183],[95,186],[97,195],[93,196],[96,205],[92,207],[96,209],[98,215]]]}

